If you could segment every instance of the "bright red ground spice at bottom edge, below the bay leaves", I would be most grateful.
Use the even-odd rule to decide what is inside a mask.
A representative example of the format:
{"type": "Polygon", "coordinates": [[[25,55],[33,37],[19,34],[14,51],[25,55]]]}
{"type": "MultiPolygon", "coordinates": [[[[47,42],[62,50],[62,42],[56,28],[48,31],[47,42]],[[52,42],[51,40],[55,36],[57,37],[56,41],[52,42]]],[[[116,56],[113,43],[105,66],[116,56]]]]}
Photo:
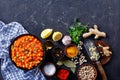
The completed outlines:
{"type": "Polygon", "coordinates": [[[60,69],[57,73],[57,77],[59,80],[67,80],[69,76],[70,71],[67,69],[60,69]]]}

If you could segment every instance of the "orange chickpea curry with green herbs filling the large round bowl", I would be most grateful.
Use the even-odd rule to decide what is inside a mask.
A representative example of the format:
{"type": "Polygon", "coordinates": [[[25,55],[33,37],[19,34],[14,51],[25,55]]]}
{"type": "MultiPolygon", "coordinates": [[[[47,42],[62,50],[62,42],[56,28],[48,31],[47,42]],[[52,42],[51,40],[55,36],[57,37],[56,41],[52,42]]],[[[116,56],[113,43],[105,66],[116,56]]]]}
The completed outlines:
{"type": "Polygon", "coordinates": [[[44,55],[43,45],[33,35],[18,37],[10,47],[11,59],[17,67],[32,69],[37,66],[44,55]]]}

